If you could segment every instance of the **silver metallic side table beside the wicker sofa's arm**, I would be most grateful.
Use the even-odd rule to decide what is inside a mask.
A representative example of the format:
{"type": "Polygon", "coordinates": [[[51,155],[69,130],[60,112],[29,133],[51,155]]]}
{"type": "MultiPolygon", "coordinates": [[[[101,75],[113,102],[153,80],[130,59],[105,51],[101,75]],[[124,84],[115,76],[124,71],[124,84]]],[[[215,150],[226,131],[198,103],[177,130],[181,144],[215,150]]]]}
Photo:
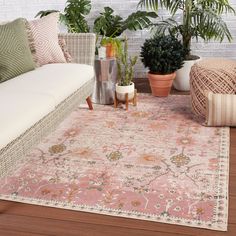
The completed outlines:
{"type": "Polygon", "coordinates": [[[115,58],[95,59],[96,81],[92,102],[109,105],[114,104],[117,66],[115,58]]]}

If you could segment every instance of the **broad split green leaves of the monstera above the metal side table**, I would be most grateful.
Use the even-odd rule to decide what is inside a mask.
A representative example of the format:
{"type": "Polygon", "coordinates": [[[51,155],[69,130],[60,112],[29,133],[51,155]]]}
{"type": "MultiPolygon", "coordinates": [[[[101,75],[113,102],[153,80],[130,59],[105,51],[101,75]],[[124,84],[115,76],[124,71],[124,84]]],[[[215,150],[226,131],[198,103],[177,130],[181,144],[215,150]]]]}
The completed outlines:
{"type": "Polygon", "coordinates": [[[150,18],[156,18],[155,12],[137,11],[123,19],[114,14],[114,10],[105,7],[94,21],[94,32],[105,37],[118,37],[125,30],[142,30],[152,25],[150,18]]]}

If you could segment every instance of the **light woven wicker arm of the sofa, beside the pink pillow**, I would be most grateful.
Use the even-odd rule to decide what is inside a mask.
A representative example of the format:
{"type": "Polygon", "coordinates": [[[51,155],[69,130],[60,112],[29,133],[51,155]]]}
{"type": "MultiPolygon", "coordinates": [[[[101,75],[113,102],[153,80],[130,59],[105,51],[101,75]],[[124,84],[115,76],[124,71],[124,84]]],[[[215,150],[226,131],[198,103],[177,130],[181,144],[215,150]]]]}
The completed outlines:
{"type": "Polygon", "coordinates": [[[59,34],[68,47],[74,63],[94,65],[96,36],[92,33],[59,34]]]}

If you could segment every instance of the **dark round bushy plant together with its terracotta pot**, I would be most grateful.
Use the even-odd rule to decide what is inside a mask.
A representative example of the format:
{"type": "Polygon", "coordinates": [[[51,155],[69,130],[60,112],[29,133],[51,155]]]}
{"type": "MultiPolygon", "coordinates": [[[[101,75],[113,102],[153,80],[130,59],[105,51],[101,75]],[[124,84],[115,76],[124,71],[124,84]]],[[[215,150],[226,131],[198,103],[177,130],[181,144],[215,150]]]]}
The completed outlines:
{"type": "Polygon", "coordinates": [[[169,95],[176,71],[183,66],[186,53],[187,50],[174,36],[156,35],[145,41],[141,60],[149,69],[148,79],[154,96],[169,95]]]}

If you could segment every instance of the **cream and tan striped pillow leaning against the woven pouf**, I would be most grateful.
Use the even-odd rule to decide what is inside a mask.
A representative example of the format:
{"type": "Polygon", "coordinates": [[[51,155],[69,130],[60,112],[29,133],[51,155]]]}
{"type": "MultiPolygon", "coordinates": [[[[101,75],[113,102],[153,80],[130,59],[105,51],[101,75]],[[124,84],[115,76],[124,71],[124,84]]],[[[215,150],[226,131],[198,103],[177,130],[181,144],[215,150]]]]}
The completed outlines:
{"type": "Polygon", "coordinates": [[[207,92],[207,126],[236,126],[236,95],[207,92]]]}

